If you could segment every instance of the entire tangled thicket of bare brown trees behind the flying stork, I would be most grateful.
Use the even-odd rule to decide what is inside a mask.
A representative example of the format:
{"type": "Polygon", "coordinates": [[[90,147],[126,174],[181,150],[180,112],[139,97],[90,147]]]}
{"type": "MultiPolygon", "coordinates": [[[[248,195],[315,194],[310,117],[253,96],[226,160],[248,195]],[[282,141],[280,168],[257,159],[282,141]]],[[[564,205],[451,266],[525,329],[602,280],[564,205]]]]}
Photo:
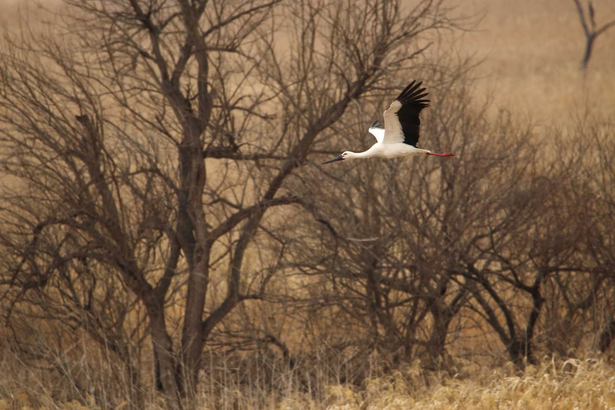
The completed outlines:
{"type": "Polygon", "coordinates": [[[438,48],[468,21],[435,0],[80,0],[5,33],[4,352],[103,408],[222,379],[322,394],[376,357],[607,352],[609,123],[488,114],[438,48]],[[454,159],[317,165],[367,148],[415,77],[422,144],[454,159]]]}

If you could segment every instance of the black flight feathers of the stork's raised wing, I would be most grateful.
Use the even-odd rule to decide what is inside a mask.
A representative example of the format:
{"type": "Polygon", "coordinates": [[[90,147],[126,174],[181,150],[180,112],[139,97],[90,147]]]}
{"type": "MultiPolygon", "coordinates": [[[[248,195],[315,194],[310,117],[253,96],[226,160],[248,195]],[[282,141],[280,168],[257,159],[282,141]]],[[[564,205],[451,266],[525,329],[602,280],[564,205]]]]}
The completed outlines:
{"type": "Polygon", "coordinates": [[[399,123],[402,125],[404,136],[403,143],[414,147],[416,147],[416,143],[418,143],[419,131],[421,128],[419,114],[423,108],[429,107],[427,103],[431,102],[431,100],[421,100],[421,98],[429,94],[423,93],[426,89],[419,89],[423,81],[418,82],[416,85],[415,82],[416,80],[411,82],[410,85],[400,93],[399,97],[396,98],[397,101],[402,103],[402,108],[397,110],[396,114],[399,123]]]}

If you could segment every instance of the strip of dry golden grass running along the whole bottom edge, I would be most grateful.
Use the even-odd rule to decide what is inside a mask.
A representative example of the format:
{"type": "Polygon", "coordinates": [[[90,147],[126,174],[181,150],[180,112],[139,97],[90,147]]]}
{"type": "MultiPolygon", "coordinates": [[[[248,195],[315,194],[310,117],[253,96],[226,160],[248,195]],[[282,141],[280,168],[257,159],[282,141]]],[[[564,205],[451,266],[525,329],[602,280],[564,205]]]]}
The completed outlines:
{"type": "MultiPolygon", "coordinates": [[[[9,381],[6,376],[0,385],[9,381]]],[[[292,379],[290,374],[282,376],[292,379]]],[[[258,390],[248,395],[230,379],[228,385],[213,390],[216,393],[208,390],[199,395],[197,409],[614,409],[615,368],[592,358],[545,360],[539,366],[528,366],[523,373],[513,365],[491,368],[466,363],[451,377],[423,371],[415,363],[387,376],[367,379],[359,387],[323,385],[318,394],[291,388],[288,392],[258,390]]],[[[25,387],[6,391],[3,396],[0,410],[109,408],[97,406],[88,395],[84,401],[70,403],[58,403],[45,395],[33,397],[25,387]]],[[[127,404],[122,401],[111,408],[127,408],[127,404]]],[[[145,408],[162,409],[164,401],[153,400],[145,408]]]]}

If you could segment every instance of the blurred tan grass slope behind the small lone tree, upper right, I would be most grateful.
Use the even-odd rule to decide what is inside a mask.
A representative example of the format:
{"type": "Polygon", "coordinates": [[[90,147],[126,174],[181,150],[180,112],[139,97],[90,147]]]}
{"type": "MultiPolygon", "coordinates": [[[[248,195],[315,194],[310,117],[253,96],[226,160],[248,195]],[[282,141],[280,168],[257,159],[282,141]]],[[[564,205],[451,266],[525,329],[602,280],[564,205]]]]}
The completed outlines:
{"type": "MultiPolygon", "coordinates": [[[[484,17],[461,49],[484,59],[477,95],[538,124],[560,124],[586,111],[611,113],[615,34],[595,42],[585,79],[579,66],[585,37],[573,1],[459,0],[458,12],[484,17]]],[[[615,18],[615,3],[594,1],[597,25],[615,18]]]]}

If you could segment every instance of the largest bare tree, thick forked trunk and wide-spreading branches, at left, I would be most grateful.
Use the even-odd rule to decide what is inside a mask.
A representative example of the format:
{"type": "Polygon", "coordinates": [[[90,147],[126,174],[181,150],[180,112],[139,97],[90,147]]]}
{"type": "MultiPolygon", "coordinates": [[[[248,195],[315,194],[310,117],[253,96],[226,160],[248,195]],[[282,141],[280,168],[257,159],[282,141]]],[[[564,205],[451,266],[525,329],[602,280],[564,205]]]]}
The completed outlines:
{"type": "MultiPolygon", "coordinates": [[[[194,393],[212,329],[240,302],[265,296],[281,256],[253,264],[247,255],[256,237],[284,225],[268,210],[309,207],[287,180],[301,178],[352,101],[389,86],[424,36],[455,22],[434,0],[411,9],[276,0],[66,6],[66,42],[31,33],[4,43],[2,164],[14,183],[2,194],[3,219],[16,232],[2,232],[15,255],[2,283],[15,306],[33,292],[56,298],[47,283],[78,280],[76,261],[101,266],[86,271],[89,283],[107,272],[142,304],[156,385],[179,403],[194,393]],[[214,273],[224,277],[221,298],[212,296],[214,273]],[[182,289],[174,329],[167,306],[182,289]]],[[[80,312],[98,296],[87,283],[75,293],[80,312]]]]}

